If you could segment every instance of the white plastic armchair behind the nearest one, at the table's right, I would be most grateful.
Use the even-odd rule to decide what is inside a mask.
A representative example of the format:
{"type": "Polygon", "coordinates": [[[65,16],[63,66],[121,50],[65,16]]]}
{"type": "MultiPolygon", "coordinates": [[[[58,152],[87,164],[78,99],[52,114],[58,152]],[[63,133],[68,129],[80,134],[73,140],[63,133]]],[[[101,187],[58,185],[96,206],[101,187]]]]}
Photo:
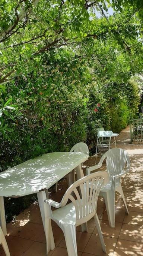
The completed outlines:
{"type": "Polygon", "coordinates": [[[125,202],[125,197],[123,189],[121,187],[120,178],[129,172],[130,169],[130,159],[125,150],[121,148],[113,148],[107,151],[99,161],[98,165],[89,167],[86,169],[86,175],[89,175],[92,171],[101,168],[104,159],[106,158],[107,172],[109,174],[109,183],[102,187],[99,196],[104,197],[109,225],[115,227],[115,191],[120,193],[122,196],[127,214],[128,208],[125,202]],[[124,171],[125,164],[127,164],[127,169],[124,171]]]}

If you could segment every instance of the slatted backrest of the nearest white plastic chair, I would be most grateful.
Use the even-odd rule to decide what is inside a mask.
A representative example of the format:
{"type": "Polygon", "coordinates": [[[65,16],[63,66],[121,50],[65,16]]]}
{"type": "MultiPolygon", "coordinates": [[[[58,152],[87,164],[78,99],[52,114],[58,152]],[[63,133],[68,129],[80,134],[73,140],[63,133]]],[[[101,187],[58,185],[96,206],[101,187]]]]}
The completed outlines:
{"type": "Polygon", "coordinates": [[[67,189],[60,206],[65,206],[70,199],[76,210],[76,221],[89,214],[94,216],[100,189],[108,181],[109,175],[105,171],[95,172],[77,180],[67,189]],[[72,192],[74,192],[74,196],[72,192]]]}

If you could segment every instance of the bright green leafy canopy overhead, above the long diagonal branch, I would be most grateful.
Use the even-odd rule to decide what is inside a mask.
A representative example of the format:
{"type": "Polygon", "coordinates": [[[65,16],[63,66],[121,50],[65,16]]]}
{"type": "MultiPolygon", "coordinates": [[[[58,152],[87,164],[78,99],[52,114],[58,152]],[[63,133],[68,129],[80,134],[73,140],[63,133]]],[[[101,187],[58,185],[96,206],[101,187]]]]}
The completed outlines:
{"type": "MultiPolygon", "coordinates": [[[[121,6],[125,7],[126,12],[130,7],[130,12],[136,11],[140,22],[141,1],[112,0],[111,4],[120,11],[121,6]]],[[[31,61],[36,62],[44,52],[61,46],[70,46],[76,51],[77,45],[86,38],[104,40],[108,33],[116,34],[116,28],[112,28],[108,18],[100,33],[101,24],[96,19],[95,8],[104,14],[104,9],[108,10],[105,1],[1,0],[0,8],[0,84],[24,73],[23,70],[30,70],[31,61]],[[95,29],[97,26],[99,30],[95,29]]],[[[134,33],[139,34],[139,31],[134,33]]],[[[117,36],[122,44],[120,51],[130,50],[125,37],[125,34],[122,38],[117,36]]]]}

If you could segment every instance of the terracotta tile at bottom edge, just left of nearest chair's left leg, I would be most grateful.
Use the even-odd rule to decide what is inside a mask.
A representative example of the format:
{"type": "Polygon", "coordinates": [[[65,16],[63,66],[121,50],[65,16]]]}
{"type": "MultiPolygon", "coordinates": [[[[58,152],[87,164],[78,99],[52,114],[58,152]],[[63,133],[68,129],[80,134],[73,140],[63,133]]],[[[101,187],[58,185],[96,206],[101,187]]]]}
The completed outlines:
{"type": "MultiPolygon", "coordinates": [[[[54,250],[49,252],[48,256],[53,254],[54,250]]],[[[46,244],[34,242],[23,256],[46,256],[46,244]]]]}

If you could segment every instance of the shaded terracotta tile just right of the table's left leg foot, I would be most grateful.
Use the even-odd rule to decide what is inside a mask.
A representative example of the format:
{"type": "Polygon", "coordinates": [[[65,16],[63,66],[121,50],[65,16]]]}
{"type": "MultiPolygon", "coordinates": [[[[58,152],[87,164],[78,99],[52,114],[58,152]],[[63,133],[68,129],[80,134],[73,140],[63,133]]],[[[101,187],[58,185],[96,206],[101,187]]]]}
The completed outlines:
{"type": "Polygon", "coordinates": [[[28,222],[19,229],[11,230],[10,235],[35,241],[42,234],[43,230],[43,225],[28,222]]]}

